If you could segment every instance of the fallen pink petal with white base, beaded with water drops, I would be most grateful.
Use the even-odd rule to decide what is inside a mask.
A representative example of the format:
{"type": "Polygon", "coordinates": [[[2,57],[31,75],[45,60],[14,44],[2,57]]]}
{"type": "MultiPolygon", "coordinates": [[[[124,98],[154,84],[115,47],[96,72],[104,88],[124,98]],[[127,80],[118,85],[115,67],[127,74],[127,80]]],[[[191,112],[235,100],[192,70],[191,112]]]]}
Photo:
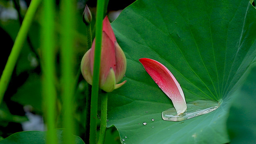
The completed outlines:
{"type": "Polygon", "coordinates": [[[139,61],[155,83],[171,99],[177,115],[183,114],[187,110],[185,96],[180,84],[172,73],[156,60],[142,58],[139,61]]]}

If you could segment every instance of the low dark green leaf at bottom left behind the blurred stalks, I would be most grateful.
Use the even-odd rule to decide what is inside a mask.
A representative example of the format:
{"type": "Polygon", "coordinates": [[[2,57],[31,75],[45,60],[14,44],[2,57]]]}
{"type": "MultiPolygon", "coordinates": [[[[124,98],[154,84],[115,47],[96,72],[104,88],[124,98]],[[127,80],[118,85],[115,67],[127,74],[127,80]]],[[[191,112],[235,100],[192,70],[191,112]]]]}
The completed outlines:
{"type": "MultiPolygon", "coordinates": [[[[63,129],[56,130],[58,144],[63,144],[63,129]]],[[[46,133],[40,131],[17,132],[0,141],[0,144],[46,144],[46,133]]],[[[74,135],[75,144],[85,144],[83,140],[74,135]]]]}

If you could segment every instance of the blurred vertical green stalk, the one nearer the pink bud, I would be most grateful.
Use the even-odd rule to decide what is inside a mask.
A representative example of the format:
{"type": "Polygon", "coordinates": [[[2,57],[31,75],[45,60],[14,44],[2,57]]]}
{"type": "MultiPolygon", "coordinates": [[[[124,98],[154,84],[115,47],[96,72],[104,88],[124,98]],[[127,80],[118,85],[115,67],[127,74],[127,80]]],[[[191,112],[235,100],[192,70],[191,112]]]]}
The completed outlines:
{"type": "Polygon", "coordinates": [[[73,138],[73,94],[74,94],[74,52],[73,52],[73,33],[74,27],[74,1],[62,0],[61,21],[63,24],[61,35],[61,80],[62,80],[62,96],[63,96],[63,127],[64,144],[74,144],[73,138]]]}

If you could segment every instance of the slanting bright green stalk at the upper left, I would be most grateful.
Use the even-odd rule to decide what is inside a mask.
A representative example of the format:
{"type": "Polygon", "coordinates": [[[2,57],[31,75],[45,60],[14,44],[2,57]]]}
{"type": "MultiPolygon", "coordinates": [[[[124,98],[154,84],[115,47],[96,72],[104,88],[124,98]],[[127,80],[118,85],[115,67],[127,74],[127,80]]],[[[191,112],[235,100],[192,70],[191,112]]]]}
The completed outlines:
{"type": "Polygon", "coordinates": [[[37,7],[40,4],[40,2],[41,2],[41,0],[32,0],[31,1],[29,8],[26,12],[26,15],[24,17],[24,21],[21,25],[20,31],[15,39],[15,42],[12,47],[10,56],[7,60],[6,66],[2,72],[1,79],[0,79],[0,104],[2,102],[6,88],[8,87],[8,84],[10,82],[10,78],[12,76],[13,69],[15,67],[15,64],[19,57],[21,48],[22,48],[23,43],[27,37],[27,32],[29,30],[29,27],[30,27],[32,21],[33,21],[33,17],[37,11],[37,7]]]}

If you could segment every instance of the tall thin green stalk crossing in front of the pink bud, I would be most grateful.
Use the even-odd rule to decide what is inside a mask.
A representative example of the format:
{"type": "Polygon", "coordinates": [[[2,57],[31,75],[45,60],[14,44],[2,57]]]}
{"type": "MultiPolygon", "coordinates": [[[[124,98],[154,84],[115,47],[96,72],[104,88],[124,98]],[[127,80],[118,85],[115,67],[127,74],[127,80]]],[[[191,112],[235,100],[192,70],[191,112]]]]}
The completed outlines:
{"type": "Polygon", "coordinates": [[[91,117],[90,117],[90,144],[96,144],[97,131],[97,111],[98,111],[98,84],[99,84],[99,68],[101,55],[101,40],[102,40],[102,20],[104,11],[104,0],[97,1],[96,14],[96,36],[95,36],[95,55],[93,66],[93,82],[91,96],[91,117]]]}

